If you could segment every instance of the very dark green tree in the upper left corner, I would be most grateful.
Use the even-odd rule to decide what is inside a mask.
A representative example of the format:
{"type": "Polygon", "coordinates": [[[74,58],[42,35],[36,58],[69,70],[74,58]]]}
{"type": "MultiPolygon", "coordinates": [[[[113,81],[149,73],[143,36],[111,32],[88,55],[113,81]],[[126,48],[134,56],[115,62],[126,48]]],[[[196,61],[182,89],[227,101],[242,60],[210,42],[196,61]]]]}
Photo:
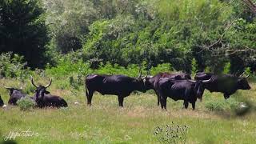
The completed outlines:
{"type": "Polygon", "coordinates": [[[32,68],[45,63],[49,42],[44,10],[37,0],[0,1],[0,53],[22,54],[32,68]]]}

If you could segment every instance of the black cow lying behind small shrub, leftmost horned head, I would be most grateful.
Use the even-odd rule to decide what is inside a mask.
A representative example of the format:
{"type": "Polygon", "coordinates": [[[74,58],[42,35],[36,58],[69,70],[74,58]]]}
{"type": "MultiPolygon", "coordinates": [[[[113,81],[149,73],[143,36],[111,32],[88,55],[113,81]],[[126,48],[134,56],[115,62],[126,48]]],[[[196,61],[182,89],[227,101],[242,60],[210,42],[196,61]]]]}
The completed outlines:
{"type": "Polygon", "coordinates": [[[10,91],[9,93],[10,98],[8,101],[8,104],[10,105],[16,106],[19,99],[26,97],[26,94],[22,93],[22,88],[17,89],[17,88],[6,87],[6,86],[5,88],[10,91]]]}

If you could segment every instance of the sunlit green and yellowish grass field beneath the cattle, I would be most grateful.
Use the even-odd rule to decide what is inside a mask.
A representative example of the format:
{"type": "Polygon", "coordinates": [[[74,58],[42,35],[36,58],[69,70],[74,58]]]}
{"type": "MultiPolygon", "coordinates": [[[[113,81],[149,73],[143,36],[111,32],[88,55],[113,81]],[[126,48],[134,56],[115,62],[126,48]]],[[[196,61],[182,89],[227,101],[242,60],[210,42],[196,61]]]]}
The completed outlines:
{"type": "MultiPolygon", "coordinates": [[[[17,80],[0,80],[0,94],[8,102],[9,93],[3,85],[17,86],[17,80]]],[[[157,106],[154,93],[132,94],[125,98],[124,108],[118,107],[116,96],[94,94],[93,105],[86,106],[83,86],[66,88],[64,83],[54,81],[49,91],[62,95],[69,104],[61,109],[19,110],[18,106],[0,108],[0,142],[11,131],[30,130],[38,133],[32,137],[17,137],[17,143],[158,143],[154,135],[157,126],[172,122],[188,126],[186,143],[255,143],[256,139],[256,84],[250,82],[251,90],[239,90],[227,101],[222,94],[206,90],[203,101],[182,108],[182,101],[168,98],[167,110],[157,106]],[[242,100],[252,102],[249,114],[237,116],[230,103],[242,100]],[[74,104],[74,102],[79,102],[74,104]],[[221,103],[218,108],[207,105],[221,103]],[[220,110],[219,108],[223,108],[220,110]]],[[[27,81],[26,83],[29,83],[27,81]]],[[[69,87],[69,86],[67,86],[69,87]]],[[[25,91],[33,90],[29,84],[25,91]]],[[[31,93],[30,93],[31,94],[31,93]]],[[[181,142],[178,142],[181,143],[181,142]]]]}

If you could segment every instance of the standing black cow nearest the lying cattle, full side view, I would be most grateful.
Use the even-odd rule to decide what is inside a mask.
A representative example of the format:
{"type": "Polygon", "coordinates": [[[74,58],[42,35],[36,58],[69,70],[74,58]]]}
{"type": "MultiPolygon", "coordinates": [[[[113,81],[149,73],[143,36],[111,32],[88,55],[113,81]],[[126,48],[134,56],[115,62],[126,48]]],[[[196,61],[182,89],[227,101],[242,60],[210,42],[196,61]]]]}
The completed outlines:
{"type": "Polygon", "coordinates": [[[141,71],[138,78],[130,78],[126,75],[89,74],[85,83],[88,105],[91,105],[94,91],[102,95],[118,95],[119,106],[123,106],[123,99],[134,90],[146,92],[141,71]]]}

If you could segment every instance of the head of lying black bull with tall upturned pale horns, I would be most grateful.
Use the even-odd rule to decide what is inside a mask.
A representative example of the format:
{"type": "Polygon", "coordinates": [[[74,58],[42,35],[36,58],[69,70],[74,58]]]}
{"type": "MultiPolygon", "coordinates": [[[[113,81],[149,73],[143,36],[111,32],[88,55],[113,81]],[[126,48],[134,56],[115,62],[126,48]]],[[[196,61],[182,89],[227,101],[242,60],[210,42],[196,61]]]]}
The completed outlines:
{"type": "Polygon", "coordinates": [[[42,100],[45,96],[45,94],[50,94],[49,91],[47,91],[47,87],[49,87],[51,85],[51,82],[52,82],[52,79],[50,78],[50,82],[46,85],[46,86],[37,86],[34,84],[34,80],[33,78],[31,77],[31,83],[34,87],[36,87],[36,90],[35,90],[35,95],[36,95],[36,101],[38,100],[42,100]]]}

